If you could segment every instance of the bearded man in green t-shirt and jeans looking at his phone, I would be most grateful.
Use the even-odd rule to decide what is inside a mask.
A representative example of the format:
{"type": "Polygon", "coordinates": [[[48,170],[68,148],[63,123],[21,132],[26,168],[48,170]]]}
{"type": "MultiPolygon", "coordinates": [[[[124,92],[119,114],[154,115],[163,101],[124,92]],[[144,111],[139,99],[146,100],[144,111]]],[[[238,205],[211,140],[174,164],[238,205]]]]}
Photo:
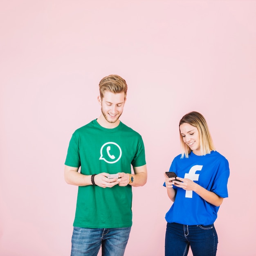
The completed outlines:
{"type": "Polygon", "coordinates": [[[103,256],[124,255],[132,226],[132,186],[147,180],[142,138],[119,120],[126,81],[106,76],[99,91],[101,115],[74,132],[65,161],[65,181],[79,186],[72,256],[97,256],[100,246],[103,256]]]}

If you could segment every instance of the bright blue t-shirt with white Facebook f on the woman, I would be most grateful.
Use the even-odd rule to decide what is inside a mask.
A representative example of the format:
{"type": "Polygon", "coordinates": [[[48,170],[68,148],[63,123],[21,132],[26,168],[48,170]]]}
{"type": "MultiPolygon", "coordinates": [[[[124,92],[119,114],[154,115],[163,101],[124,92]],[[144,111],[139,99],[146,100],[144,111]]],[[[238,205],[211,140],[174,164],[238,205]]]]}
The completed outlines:
{"type": "MultiPolygon", "coordinates": [[[[203,156],[191,152],[188,158],[181,158],[181,155],[178,155],[173,159],[169,171],[175,172],[178,177],[193,180],[222,198],[228,197],[229,163],[217,151],[211,151],[210,154],[203,156]]],[[[177,193],[171,209],[166,213],[167,222],[183,225],[214,223],[219,207],[208,203],[194,191],[186,191],[176,186],[173,188],[177,190],[177,193]]]]}

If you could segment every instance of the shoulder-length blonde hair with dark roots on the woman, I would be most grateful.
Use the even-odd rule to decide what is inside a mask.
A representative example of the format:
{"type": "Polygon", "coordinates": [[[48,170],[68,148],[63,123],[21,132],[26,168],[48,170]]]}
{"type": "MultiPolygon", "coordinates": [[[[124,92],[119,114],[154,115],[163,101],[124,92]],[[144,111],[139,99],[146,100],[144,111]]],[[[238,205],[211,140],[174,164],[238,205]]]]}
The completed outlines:
{"type": "MultiPolygon", "coordinates": [[[[187,123],[198,129],[199,132],[199,140],[200,140],[200,150],[201,155],[207,155],[211,153],[211,151],[215,151],[215,147],[213,146],[213,141],[211,138],[211,134],[209,132],[209,128],[207,126],[207,122],[202,114],[199,112],[190,112],[180,120],[179,128],[182,124],[187,123]]],[[[189,157],[189,153],[191,153],[191,148],[183,141],[183,137],[180,134],[180,142],[181,142],[181,150],[182,150],[182,158],[185,156],[189,157]]]]}

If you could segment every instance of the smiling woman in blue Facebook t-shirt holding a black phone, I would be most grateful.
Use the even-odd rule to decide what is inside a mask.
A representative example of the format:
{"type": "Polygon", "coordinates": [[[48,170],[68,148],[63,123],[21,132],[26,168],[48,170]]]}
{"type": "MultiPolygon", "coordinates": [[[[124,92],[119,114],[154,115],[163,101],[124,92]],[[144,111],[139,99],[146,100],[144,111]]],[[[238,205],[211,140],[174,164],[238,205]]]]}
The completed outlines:
{"type": "Polygon", "coordinates": [[[218,236],[214,228],[223,198],[228,197],[229,163],[218,153],[204,117],[190,112],[180,120],[182,154],[173,159],[165,174],[168,197],[165,255],[215,256],[218,236]],[[180,180],[180,181],[177,181],[180,180]]]}

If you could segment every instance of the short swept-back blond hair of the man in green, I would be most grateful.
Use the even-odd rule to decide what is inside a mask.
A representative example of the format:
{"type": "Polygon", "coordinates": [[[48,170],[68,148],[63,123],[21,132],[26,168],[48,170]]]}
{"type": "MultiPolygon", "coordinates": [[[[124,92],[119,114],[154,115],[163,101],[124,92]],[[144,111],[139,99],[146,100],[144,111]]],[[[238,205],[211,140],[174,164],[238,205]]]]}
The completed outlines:
{"type": "Polygon", "coordinates": [[[104,97],[105,92],[120,93],[124,92],[124,99],[126,99],[127,84],[126,81],[118,75],[105,76],[99,82],[99,92],[101,99],[104,97]]]}

